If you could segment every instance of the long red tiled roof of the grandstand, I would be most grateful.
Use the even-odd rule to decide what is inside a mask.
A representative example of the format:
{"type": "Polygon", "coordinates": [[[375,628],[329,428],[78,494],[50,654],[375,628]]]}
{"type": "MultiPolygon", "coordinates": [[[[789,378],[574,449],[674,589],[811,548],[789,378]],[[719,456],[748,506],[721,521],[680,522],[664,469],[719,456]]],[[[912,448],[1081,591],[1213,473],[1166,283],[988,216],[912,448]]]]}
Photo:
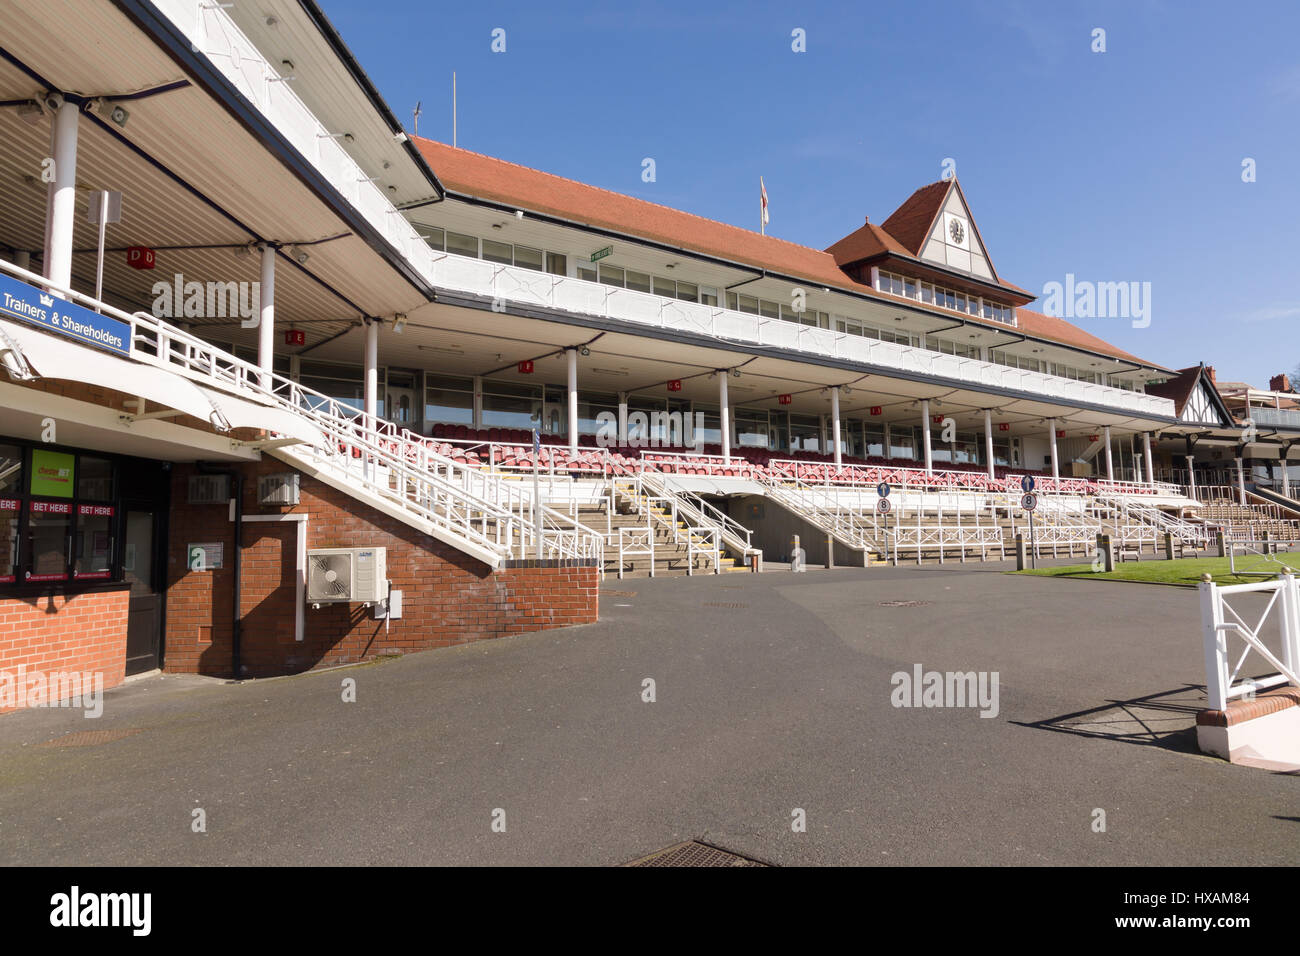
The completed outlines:
{"type": "MultiPolygon", "coordinates": [[[[413,137],[413,139],[420,152],[429,161],[429,165],[433,166],[438,179],[451,193],[506,203],[516,208],[556,216],[578,225],[610,229],[612,232],[663,242],[757,269],[768,269],[770,272],[796,276],[816,282],[818,285],[853,293],[864,293],[887,302],[905,300],[878,293],[868,284],[858,282],[845,274],[838,263],[849,263],[864,256],[879,255],[880,252],[914,258],[913,252],[888,228],[888,222],[900,217],[904,221],[924,219],[924,208],[936,202],[933,196],[937,195],[937,202],[942,202],[942,196],[946,195],[946,190],[950,186],[950,181],[924,186],[898,207],[885,226],[875,226],[868,222],[836,242],[828,250],[818,250],[771,235],[762,235],[749,229],[740,229],[725,222],[718,222],[703,216],[681,212],[680,209],[672,209],[667,206],[646,202],[645,199],[634,199],[621,193],[589,186],[562,176],[484,156],[469,150],[455,148],[446,143],[438,143],[421,137],[413,137]],[[918,199],[923,194],[930,198],[924,200],[918,199]],[[909,207],[911,208],[909,209],[909,207]],[[858,255],[858,252],[864,252],[864,255],[858,255]]],[[[937,208],[939,206],[933,204],[933,211],[937,211],[937,208]]],[[[930,220],[933,220],[933,213],[931,213],[930,220]]],[[[930,221],[920,226],[920,229],[926,229],[930,221]]],[[[1014,289],[1015,286],[1008,285],[1008,287],[1014,289]]],[[[1052,319],[1024,308],[1017,310],[1017,313],[1020,316],[1020,329],[1027,334],[1063,345],[1072,345],[1079,349],[1088,349],[1127,362],[1145,365],[1153,364],[1130,355],[1061,319],[1052,319]]],[[[942,315],[942,312],[939,315],[942,315]]],[[[992,320],[983,320],[976,316],[965,317],[974,324],[1008,329],[1001,323],[992,320]]]]}

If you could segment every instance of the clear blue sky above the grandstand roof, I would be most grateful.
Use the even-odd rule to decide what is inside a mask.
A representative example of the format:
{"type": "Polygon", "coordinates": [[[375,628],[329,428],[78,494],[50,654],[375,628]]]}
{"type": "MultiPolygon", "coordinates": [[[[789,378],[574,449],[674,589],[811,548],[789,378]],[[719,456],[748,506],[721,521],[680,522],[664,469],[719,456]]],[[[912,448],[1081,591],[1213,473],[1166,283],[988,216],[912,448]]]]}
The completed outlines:
{"type": "Polygon", "coordinates": [[[463,147],[751,229],[762,174],[770,234],[818,248],[952,157],[1005,280],[1150,282],[1148,328],[1091,332],[1258,386],[1300,365],[1300,4],[322,7],[424,135],[455,70],[463,147]]]}

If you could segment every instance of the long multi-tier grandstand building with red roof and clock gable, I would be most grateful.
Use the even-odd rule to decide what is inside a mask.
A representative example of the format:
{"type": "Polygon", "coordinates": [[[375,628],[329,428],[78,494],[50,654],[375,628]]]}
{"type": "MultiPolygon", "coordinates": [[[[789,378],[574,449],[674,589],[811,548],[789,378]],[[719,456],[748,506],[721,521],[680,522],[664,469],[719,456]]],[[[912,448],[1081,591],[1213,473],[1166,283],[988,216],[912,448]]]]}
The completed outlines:
{"type": "Polygon", "coordinates": [[[811,248],[410,135],[309,0],[8,7],[0,670],[584,623],[794,535],[1002,559],[1026,475],[1049,553],[1300,537],[1295,402],[1034,311],[956,179],[811,248]]]}

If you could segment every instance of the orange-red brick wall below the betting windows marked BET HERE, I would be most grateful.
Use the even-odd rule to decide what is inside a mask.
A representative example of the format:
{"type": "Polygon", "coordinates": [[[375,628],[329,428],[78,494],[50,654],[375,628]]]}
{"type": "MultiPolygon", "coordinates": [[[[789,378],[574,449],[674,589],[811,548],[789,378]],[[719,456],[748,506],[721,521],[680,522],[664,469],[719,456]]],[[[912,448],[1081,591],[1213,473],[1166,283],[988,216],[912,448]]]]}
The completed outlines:
{"type": "MultiPolygon", "coordinates": [[[[126,588],[0,598],[0,671],[126,674],[126,588]]],[[[14,710],[0,706],[0,713],[14,710]]]]}

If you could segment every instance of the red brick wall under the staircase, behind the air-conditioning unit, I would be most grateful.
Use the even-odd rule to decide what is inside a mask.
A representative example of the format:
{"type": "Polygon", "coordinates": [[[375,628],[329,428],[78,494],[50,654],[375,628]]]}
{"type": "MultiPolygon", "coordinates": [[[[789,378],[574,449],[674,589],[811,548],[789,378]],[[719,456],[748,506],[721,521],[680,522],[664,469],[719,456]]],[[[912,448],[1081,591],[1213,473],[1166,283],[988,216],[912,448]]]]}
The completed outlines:
{"type": "MultiPolygon", "coordinates": [[[[299,505],[257,505],[257,475],[292,471],[269,455],[243,466],[246,515],[309,515],[307,548],[387,549],[387,575],[403,592],[399,620],[376,620],[361,605],[306,611],[306,637],[294,640],[296,535],[294,522],[243,525],[244,676],[268,676],[464,644],[507,633],[586,624],[597,618],[595,567],[520,567],[493,574],[463,551],[370,509],[322,481],[300,476],[299,505]]],[[[234,525],[225,505],[188,505],[192,467],[173,472],[164,667],[230,676],[234,525]],[[221,541],[225,567],[190,571],[188,544],[221,541]]]]}

